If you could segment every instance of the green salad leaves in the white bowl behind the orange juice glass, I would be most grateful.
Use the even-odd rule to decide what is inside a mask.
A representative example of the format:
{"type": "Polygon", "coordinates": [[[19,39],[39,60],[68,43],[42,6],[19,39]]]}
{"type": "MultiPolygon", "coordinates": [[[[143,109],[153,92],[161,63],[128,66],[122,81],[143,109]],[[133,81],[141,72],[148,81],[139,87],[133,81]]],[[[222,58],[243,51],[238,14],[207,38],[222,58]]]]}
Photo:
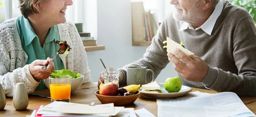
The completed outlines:
{"type": "Polygon", "coordinates": [[[67,69],[62,69],[62,70],[55,70],[52,72],[51,76],[56,76],[56,75],[69,75],[71,76],[72,78],[79,78],[81,77],[81,74],[79,73],[74,73],[72,71],[69,71],[67,69]]]}

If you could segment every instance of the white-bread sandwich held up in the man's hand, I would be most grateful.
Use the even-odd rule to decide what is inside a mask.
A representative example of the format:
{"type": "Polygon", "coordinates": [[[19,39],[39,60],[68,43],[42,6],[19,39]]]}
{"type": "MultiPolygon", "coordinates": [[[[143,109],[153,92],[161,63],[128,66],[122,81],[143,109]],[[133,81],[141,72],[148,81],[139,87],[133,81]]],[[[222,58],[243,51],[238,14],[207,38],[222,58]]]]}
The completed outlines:
{"type": "Polygon", "coordinates": [[[177,54],[175,54],[174,49],[176,48],[182,51],[184,54],[186,54],[189,57],[195,56],[194,53],[184,48],[183,42],[178,44],[175,41],[171,40],[169,37],[167,37],[166,41],[163,41],[163,43],[167,43],[167,46],[163,46],[163,48],[167,48],[166,49],[167,53],[172,53],[177,59],[180,59],[180,57],[177,54]]]}

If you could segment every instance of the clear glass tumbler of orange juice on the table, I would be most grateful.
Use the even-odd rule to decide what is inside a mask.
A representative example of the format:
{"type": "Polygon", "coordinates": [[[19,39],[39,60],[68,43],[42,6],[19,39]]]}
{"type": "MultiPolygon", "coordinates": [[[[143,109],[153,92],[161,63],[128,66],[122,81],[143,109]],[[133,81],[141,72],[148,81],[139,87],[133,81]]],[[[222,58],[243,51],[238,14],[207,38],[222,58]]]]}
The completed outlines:
{"type": "Polygon", "coordinates": [[[71,76],[58,75],[49,77],[51,101],[70,102],[71,76]]]}

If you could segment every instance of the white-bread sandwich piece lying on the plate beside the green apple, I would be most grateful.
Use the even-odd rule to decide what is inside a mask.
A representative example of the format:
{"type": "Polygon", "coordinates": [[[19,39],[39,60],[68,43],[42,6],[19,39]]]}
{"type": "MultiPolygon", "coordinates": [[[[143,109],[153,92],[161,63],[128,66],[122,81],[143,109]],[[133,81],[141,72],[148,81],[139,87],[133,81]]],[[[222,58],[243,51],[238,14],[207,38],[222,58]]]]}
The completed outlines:
{"type": "Polygon", "coordinates": [[[162,92],[161,87],[157,84],[157,81],[142,85],[140,87],[140,89],[141,89],[141,91],[144,91],[144,92],[152,92],[152,93],[161,93],[162,92]]]}

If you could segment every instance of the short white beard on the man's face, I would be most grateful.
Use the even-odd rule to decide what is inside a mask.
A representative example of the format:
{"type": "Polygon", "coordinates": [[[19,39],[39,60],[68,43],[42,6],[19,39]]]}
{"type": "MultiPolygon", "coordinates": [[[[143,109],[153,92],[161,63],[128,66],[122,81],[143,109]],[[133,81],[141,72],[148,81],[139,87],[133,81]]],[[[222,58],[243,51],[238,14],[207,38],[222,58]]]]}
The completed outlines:
{"type": "Polygon", "coordinates": [[[173,18],[177,21],[183,21],[183,22],[187,22],[187,23],[201,22],[202,20],[204,20],[205,16],[204,16],[203,12],[201,11],[201,9],[199,8],[197,3],[198,2],[196,2],[194,4],[194,6],[192,7],[192,9],[189,9],[189,11],[187,13],[184,12],[184,10],[182,9],[182,7],[180,5],[174,5],[174,8],[182,9],[182,11],[174,9],[173,14],[172,14],[173,18]]]}

